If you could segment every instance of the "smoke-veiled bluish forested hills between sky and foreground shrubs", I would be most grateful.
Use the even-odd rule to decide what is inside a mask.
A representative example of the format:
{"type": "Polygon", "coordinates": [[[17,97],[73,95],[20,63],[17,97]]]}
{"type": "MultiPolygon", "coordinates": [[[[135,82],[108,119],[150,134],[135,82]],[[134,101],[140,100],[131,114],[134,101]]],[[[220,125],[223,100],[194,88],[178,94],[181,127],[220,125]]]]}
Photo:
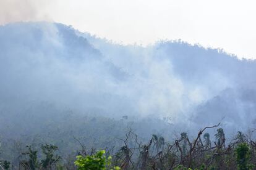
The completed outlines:
{"type": "Polygon", "coordinates": [[[2,25],[1,140],[64,153],[74,136],[104,147],[129,128],[171,140],[221,123],[231,136],[255,127],[255,75],[255,60],[181,40],[124,46],[61,23],[2,25]]]}

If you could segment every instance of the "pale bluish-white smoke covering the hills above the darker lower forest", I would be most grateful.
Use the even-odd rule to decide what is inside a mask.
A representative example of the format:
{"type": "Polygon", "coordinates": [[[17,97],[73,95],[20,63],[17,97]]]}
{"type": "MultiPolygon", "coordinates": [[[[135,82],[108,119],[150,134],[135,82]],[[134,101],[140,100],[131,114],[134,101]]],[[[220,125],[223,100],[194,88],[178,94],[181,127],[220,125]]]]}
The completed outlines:
{"type": "Polygon", "coordinates": [[[255,121],[255,64],[180,41],[121,46],[61,24],[14,23],[0,27],[0,109],[22,114],[48,102],[112,118],[168,117],[181,129],[226,117],[236,131],[255,121]]]}

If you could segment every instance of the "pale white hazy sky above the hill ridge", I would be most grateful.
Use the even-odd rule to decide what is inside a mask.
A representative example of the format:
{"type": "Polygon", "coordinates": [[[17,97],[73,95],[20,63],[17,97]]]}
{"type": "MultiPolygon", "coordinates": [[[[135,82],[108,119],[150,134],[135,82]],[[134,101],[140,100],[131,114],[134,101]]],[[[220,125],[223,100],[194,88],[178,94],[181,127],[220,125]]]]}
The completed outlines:
{"type": "Polygon", "coordinates": [[[256,2],[0,0],[0,24],[47,20],[124,44],[182,39],[256,59],[256,2]]]}

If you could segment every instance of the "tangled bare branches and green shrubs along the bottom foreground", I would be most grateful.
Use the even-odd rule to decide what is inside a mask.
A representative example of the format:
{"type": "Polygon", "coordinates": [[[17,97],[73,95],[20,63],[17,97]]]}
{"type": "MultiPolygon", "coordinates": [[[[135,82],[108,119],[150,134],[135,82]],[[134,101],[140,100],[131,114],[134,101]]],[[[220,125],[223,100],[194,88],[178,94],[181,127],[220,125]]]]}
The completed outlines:
{"type": "Polygon", "coordinates": [[[219,126],[203,128],[195,139],[182,132],[174,142],[166,142],[164,137],[153,134],[146,143],[130,129],[124,139],[118,139],[121,147],[99,148],[98,152],[95,148],[87,150],[75,139],[81,149],[68,161],[62,160],[55,145],[43,144],[40,150],[28,145],[20,152],[19,163],[1,160],[0,169],[255,169],[254,131],[246,135],[237,132],[233,140],[226,142],[219,126]],[[214,140],[205,132],[212,128],[217,128],[214,140]]]}

